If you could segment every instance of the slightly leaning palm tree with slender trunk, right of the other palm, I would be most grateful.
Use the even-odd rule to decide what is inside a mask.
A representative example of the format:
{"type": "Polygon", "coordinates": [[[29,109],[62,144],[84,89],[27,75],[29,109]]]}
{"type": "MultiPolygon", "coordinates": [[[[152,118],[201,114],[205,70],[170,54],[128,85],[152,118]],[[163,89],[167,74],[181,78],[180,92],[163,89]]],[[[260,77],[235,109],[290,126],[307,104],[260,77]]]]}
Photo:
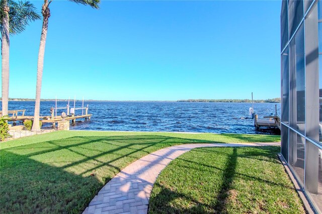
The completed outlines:
{"type": "MultiPolygon", "coordinates": [[[[40,131],[39,126],[39,113],[40,113],[40,92],[41,92],[41,81],[42,81],[42,72],[44,67],[44,54],[45,54],[45,45],[46,45],[46,37],[48,30],[48,19],[50,17],[49,5],[53,0],[44,0],[44,4],[42,5],[42,30],[40,37],[40,45],[38,52],[38,64],[37,64],[37,83],[36,83],[36,101],[35,101],[35,114],[34,114],[34,123],[32,125],[32,131],[40,131]]],[[[92,8],[98,9],[100,0],[69,0],[71,2],[89,5],[92,8]]]]}

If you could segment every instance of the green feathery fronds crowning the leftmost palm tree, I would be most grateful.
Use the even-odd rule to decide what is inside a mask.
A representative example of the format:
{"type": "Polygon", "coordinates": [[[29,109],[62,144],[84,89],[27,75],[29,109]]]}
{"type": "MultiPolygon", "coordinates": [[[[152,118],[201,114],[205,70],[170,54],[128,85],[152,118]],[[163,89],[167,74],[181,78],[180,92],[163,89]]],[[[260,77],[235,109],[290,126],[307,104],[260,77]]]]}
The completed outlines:
{"type": "MultiPolygon", "coordinates": [[[[26,29],[26,26],[41,17],[36,12],[36,8],[29,1],[14,2],[8,0],[9,11],[9,28],[11,34],[18,34],[26,29]]],[[[2,8],[1,8],[2,9],[2,8]]],[[[3,17],[3,10],[0,10],[0,18],[3,17]]],[[[2,21],[0,21],[0,28],[2,28],[2,21]]]]}

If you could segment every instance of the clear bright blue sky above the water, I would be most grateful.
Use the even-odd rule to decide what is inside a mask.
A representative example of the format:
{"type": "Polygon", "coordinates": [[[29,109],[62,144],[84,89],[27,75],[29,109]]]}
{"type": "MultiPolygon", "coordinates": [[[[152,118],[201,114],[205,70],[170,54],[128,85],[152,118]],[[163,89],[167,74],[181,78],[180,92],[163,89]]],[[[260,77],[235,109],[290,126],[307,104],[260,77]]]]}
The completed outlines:
{"type": "MultiPolygon", "coordinates": [[[[31,1],[41,9],[43,1],[31,1]]],[[[53,1],[42,98],[280,96],[280,1],[53,1]]],[[[11,37],[10,97],[34,98],[41,21],[11,37]]]]}

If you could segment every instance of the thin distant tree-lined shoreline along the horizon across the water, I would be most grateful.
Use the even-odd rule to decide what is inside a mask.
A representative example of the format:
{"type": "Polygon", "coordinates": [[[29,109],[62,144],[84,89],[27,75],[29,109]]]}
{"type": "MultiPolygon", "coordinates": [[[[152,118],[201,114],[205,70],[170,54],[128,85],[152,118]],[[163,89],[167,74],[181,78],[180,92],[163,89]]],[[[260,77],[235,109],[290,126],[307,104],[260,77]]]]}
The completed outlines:
{"type": "MultiPolygon", "coordinates": [[[[2,101],[2,99],[0,99],[2,101]]],[[[35,101],[35,99],[29,98],[9,98],[9,101],[35,101]]],[[[55,99],[40,99],[40,101],[55,101],[55,99]]],[[[68,101],[68,99],[57,99],[57,101],[68,101]]],[[[69,100],[74,101],[73,99],[69,100]]],[[[83,101],[82,99],[76,99],[77,102],[83,101]]],[[[251,99],[181,99],[181,100],[95,100],[84,99],[86,102],[238,102],[238,103],[251,103],[251,99]]],[[[273,99],[255,99],[255,103],[280,103],[281,98],[273,99]]]]}

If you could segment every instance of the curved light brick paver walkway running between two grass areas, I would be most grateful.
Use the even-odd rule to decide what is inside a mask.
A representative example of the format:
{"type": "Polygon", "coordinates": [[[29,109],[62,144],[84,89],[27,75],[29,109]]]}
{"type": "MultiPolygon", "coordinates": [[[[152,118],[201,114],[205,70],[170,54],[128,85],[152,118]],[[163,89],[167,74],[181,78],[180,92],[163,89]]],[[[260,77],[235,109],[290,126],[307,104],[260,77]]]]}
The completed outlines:
{"type": "Polygon", "coordinates": [[[131,163],[110,180],[83,213],[147,213],[152,186],[175,158],[199,147],[272,146],[280,143],[183,144],[160,149],[131,163]]]}

